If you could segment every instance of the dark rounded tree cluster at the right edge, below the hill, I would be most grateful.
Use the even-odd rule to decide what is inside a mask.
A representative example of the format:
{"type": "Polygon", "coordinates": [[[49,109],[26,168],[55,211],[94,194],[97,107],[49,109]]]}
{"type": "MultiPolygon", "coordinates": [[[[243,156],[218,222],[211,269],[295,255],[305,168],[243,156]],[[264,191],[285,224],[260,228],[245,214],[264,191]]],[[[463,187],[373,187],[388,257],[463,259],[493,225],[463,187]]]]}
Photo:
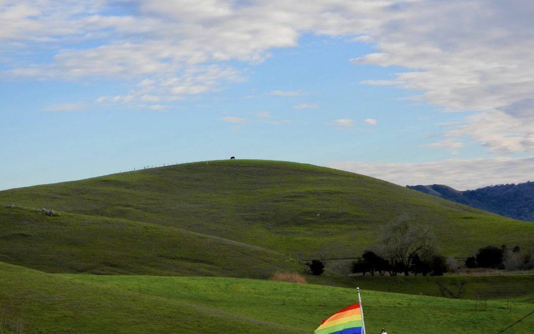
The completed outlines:
{"type": "Polygon", "coordinates": [[[519,246],[508,248],[506,245],[485,246],[476,255],[465,261],[467,268],[494,268],[506,270],[529,270],[534,268],[534,254],[521,252],[519,246]]]}

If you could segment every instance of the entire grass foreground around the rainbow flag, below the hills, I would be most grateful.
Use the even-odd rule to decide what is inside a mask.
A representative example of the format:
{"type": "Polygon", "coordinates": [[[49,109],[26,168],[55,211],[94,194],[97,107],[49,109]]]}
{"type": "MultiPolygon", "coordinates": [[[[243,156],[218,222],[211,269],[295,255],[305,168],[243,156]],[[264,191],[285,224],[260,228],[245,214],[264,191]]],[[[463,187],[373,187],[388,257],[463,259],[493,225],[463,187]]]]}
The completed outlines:
{"type": "MultiPolygon", "coordinates": [[[[216,277],[45,274],[0,263],[4,330],[58,333],[311,333],[355,289],[216,277]]],[[[453,300],[362,289],[368,333],[497,333],[532,312],[521,300],[453,300]],[[511,307],[508,307],[511,306],[511,307]],[[476,309],[475,309],[476,308],[476,309]]],[[[534,318],[505,333],[530,333],[534,318]]]]}

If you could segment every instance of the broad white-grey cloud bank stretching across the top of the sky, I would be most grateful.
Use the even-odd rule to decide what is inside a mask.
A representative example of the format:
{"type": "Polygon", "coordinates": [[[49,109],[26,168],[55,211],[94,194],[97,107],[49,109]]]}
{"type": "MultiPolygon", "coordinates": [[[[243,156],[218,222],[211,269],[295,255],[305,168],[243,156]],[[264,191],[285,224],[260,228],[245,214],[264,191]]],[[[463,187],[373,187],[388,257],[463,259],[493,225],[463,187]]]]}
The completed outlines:
{"type": "Polygon", "coordinates": [[[8,62],[3,75],[121,79],[134,88],[123,96],[168,98],[239,82],[241,71],[221,61],[261,63],[273,48],[296,46],[302,32],[347,36],[375,48],[352,63],[408,69],[362,83],[422,91],[413,98],[447,111],[479,111],[446,135],[507,154],[534,150],[533,15],[529,0],[3,0],[0,51],[46,47],[53,55],[8,62]]]}

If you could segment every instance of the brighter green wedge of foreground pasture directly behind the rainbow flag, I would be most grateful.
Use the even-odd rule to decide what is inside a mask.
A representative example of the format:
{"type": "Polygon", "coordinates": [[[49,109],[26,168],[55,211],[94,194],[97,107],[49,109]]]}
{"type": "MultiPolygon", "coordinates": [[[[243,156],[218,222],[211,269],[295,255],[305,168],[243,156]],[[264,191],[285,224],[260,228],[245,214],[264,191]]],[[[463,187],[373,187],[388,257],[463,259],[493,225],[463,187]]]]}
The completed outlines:
{"type": "MultiPolygon", "coordinates": [[[[187,300],[232,314],[293,326],[304,332],[315,330],[322,319],[357,301],[356,289],[248,279],[88,275],[74,278],[130,292],[142,285],[142,291],[146,289],[147,294],[187,300]],[[175,288],[177,285],[179,289],[175,288]]],[[[453,300],[370,290],[362,290],[362,295],[369,333],[378,333],[382,327],[394,333],[492,333],[534,310],[532,304],[504,300],[453,300]],[[508,305],[512,305],[511,309],[508,305]]],[[[527,333],[532,325],[534,319],[528,319],[507,332],[527,333]]]]}

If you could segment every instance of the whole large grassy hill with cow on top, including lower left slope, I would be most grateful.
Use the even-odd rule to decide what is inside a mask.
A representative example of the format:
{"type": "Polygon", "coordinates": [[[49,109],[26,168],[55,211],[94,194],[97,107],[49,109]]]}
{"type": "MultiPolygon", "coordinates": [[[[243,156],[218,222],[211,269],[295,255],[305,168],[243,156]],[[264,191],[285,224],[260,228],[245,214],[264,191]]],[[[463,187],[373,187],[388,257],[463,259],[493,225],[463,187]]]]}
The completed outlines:
{"type": "Polygon", "coordinates": [[[28,208],[1,208],[0,259],[66,273],[266,277],[297,268],[289,259],[354,258],[404,215],[433,226],[447,256],[528,248],[534,235],[531,222],[281,161],[204,161],[5,190],[0,204],[28,208]],[[42,207],[61,216],[38,215],[42,207]]]}

